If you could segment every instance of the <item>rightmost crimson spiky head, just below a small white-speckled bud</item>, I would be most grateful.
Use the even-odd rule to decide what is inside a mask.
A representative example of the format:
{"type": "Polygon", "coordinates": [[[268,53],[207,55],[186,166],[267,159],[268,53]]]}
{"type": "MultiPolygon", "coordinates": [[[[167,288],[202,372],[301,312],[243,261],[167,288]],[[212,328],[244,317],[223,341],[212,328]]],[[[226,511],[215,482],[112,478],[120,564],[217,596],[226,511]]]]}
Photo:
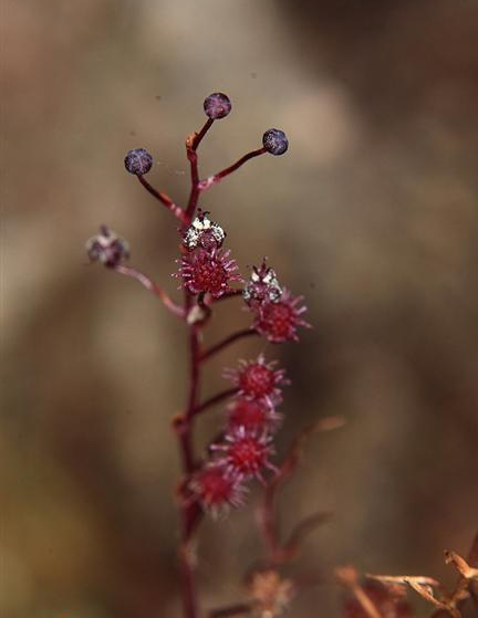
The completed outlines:
{"type": "Polygon", "coordinates": [[[306,311],[306,307],[300,306],[302,300],[302,296],[292,296],[288,290],[284,290],[280,301],[261,305],[253,327],[271,343],[298,342],[298,327],[310,328],[310,324],[301,317],[306,311]]]}

